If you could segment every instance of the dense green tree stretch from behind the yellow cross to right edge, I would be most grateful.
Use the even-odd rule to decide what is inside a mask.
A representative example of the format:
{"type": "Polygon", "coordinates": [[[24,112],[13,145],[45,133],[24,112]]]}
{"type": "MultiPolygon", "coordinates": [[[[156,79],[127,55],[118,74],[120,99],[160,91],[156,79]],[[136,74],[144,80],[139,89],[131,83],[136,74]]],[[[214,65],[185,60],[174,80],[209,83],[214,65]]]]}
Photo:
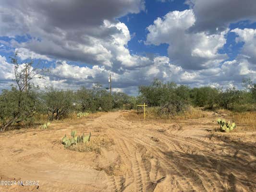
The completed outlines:
{"type": "Polygon", "coordinates": [[[179,101],[195,107],[208,109],[224,108],[246,111],[256,109],[256,84],[250,79],[243,81],[244,89],[235,87],[222,90],[210,86],[191,88],[173,82],[164,84],[155,79],[152,84],[139,86],[140,99],[152,107],[164,106],[170,101],[179,101]]]}

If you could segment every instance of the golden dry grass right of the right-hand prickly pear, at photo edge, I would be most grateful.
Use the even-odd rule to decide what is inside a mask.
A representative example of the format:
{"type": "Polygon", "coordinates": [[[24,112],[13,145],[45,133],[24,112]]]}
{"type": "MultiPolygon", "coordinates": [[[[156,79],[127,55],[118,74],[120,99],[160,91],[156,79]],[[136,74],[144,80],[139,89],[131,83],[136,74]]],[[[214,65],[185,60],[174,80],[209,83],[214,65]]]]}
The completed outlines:
{"type": "Polygon", "coordinates": [[[235,131],[256,131],[256,111],[234,112],[231,117],[238,126],[235,131]]]}

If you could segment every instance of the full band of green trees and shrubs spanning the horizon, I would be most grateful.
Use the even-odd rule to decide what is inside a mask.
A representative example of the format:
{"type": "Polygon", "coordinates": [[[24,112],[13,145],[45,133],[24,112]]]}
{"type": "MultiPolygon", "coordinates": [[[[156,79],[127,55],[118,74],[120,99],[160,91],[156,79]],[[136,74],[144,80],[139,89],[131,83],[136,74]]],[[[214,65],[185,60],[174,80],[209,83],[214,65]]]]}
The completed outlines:
{"type": "MultiPolygon", "coordinates": [[[[50,88],[42,92],[31,83],[35,78],[44,78],[47,70],[33,61],[19,64],[17,55],[11,58],[14,64],[17,86],[4,89],[0,94],[0,131],[22,121],[33,120],[36,114],[44,114],[49,120],[60,120],[71,112],[109,111],[114,108],[132,109],[145,102],[149,107],[171,106],[180,110],[184,105],[209,109],[255,110],[256,84],[250,79],[243,82],[244,89],[228,88],[221,90],[212,87],[191,88],[173,82],[163,83],[155,79],[150,85],[139,86],[139,96],[125,93],[110,93],[96,84],[92,89],[81,87],[76,92],[50,88]]],[[[171,109],[171,110],[172,110],[171,109]]]]}

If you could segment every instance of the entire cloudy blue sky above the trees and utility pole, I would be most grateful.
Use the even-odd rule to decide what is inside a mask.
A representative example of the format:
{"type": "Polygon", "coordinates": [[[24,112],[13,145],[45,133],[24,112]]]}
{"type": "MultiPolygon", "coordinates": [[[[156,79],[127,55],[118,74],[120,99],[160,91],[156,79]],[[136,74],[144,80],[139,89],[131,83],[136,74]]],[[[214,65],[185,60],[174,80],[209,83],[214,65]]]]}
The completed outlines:
{"type": "Polygon", "coordinates": [[[33,83],[138,94],[154,78],[191,87],[256,82],[255,0],[0,0],[0,90],[14,66],[50,68],[33,83]]]}

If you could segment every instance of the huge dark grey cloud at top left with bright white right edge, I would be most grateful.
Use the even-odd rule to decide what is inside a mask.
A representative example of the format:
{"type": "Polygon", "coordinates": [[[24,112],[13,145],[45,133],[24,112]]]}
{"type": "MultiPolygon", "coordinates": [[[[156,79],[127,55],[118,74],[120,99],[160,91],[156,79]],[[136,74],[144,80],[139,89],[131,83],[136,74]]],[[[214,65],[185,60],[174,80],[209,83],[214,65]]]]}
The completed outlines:
{"type": "Polygon", "coordinates": [[[29,34],[25,42],[12,40],[12,47],[22,49],[23,58],[30,51],[48,59],[130,67],[138,58],[126,48],[131,36],[116,18],[142,10],[144,0],[3,1],[0,36],[29,34]]]}

